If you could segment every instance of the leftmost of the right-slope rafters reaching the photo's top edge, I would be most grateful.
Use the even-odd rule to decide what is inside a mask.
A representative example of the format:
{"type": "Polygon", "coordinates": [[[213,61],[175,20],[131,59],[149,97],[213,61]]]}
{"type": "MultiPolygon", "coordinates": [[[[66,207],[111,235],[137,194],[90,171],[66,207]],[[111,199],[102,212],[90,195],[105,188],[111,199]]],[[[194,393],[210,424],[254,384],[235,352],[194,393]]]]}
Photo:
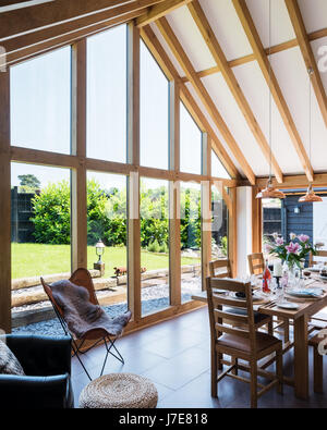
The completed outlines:
{"type": "Polygon", "coordinates": [[[201,4],[198,0],[194,0],[192,3],[189,5],[189,10],[193,16],[193,20],[195,21],[203,38],[205,39],[205,42],[207,47],[209,48],[209,51],[211,52],[211,56],[214,57],[216,63],[221,70],[222,76],[233,95],[241,112],[243,113],[245,121],[247,122],[247,125],[255,137],[264,157],[266,158],[268,164],[270,163],[271,159],[271,168],[275,173],[275,176],[277,177],[278,182],[282,182],[282,173],[280,170],[280,167],[278,165],[278,162],[274,155],[270,157],[270,147],[269,144],[259,126],[259,124],[256,121],[256,118],[238,83],[238,79],[235,78],[235,75],[233,74],[233,71],[228,64],[227,58],[225,57],[225,53],[222,49],[220,48],[220,45],[215,36],[215,33],[213,32],[210,24],[204,13],[204,11],[201,8],[201,4]]]}

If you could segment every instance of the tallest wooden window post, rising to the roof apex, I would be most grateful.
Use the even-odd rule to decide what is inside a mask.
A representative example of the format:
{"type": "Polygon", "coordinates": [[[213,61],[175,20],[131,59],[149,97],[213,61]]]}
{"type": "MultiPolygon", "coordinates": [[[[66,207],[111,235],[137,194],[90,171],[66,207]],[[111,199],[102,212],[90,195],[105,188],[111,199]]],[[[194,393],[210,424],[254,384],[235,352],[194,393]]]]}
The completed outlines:
{"type": "MultiPolygon", "coordinates": [[[[140,30],[128,25],[128,162],[140,167],[140,30]]],[[[134,321],[141,308],[140,176],[131,172],[128,184],[128,298],[134,321]]]]}

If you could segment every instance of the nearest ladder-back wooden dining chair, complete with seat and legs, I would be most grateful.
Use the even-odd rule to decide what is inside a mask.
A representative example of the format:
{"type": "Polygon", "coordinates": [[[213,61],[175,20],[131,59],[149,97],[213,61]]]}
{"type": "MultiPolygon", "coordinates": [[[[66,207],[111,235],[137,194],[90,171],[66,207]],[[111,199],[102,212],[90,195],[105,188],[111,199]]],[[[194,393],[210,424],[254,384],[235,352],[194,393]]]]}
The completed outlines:
{"type": "Polygon", "coordinates": [[[282,393],[282,342],[270,334],[256,331],[250,283],[207,278],[206,286],[211,340],[211,395],[218,396],[218,383],[222,378],[235,378],[250,382],[251,407],[257,407],[257,398],[272,386],[277,385],[278,392],[282,393]],[[229,295],[217,294],[215,288],[226,290],[229,295]],[[235,293],[243,293],[245,298],[237,298],[235,293]],[[245,310],[245,315],[234,312],[235,308],[245,310]],[[233,325],[227,324],[226,321],[231,321],[233,325]],[[240,323],[242,329],[238,327],[240,323]],[[258,367],[258,360],[274,353],[276,355],[275,373],[258,367]],[[231,366],[218,376],[223,354],[233,359],[229,363],[231,366]],[[239,359],[249,361],[249,366],[240,364],[239,359]],[[250,380],[240,377],[239,369],[250,371],[250,380]],[[270,382],[263,385],[257,382],[257,376],[263,376],[270,382]],[[258,388],[259,391],[257,391],[258,388]]]}

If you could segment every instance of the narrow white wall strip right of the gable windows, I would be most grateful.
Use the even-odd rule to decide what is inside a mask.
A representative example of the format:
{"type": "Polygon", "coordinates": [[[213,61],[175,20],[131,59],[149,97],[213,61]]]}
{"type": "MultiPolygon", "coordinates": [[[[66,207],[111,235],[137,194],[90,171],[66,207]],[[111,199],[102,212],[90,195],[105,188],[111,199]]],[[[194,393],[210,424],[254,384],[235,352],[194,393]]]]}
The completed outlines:
{"type": "Polygon", "coordinates": [[[249,274],[247,255],[252,253],[252,188],[237,188],[238,277],[249,274]]]}

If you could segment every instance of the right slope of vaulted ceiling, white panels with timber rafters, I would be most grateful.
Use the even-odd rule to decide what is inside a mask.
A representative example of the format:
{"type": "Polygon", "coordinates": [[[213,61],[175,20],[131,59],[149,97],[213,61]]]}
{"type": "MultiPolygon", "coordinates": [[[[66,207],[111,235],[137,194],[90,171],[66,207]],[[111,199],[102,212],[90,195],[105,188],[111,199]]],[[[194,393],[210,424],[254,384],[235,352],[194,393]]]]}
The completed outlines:
{"type": "Polygon", "coordinates": [[[272,174],[326,172],[327,1],[271,0],[270,48],[268,0],[184,3],[148,25],[240,174],[269,173],[269,85],[272,174]]]}

